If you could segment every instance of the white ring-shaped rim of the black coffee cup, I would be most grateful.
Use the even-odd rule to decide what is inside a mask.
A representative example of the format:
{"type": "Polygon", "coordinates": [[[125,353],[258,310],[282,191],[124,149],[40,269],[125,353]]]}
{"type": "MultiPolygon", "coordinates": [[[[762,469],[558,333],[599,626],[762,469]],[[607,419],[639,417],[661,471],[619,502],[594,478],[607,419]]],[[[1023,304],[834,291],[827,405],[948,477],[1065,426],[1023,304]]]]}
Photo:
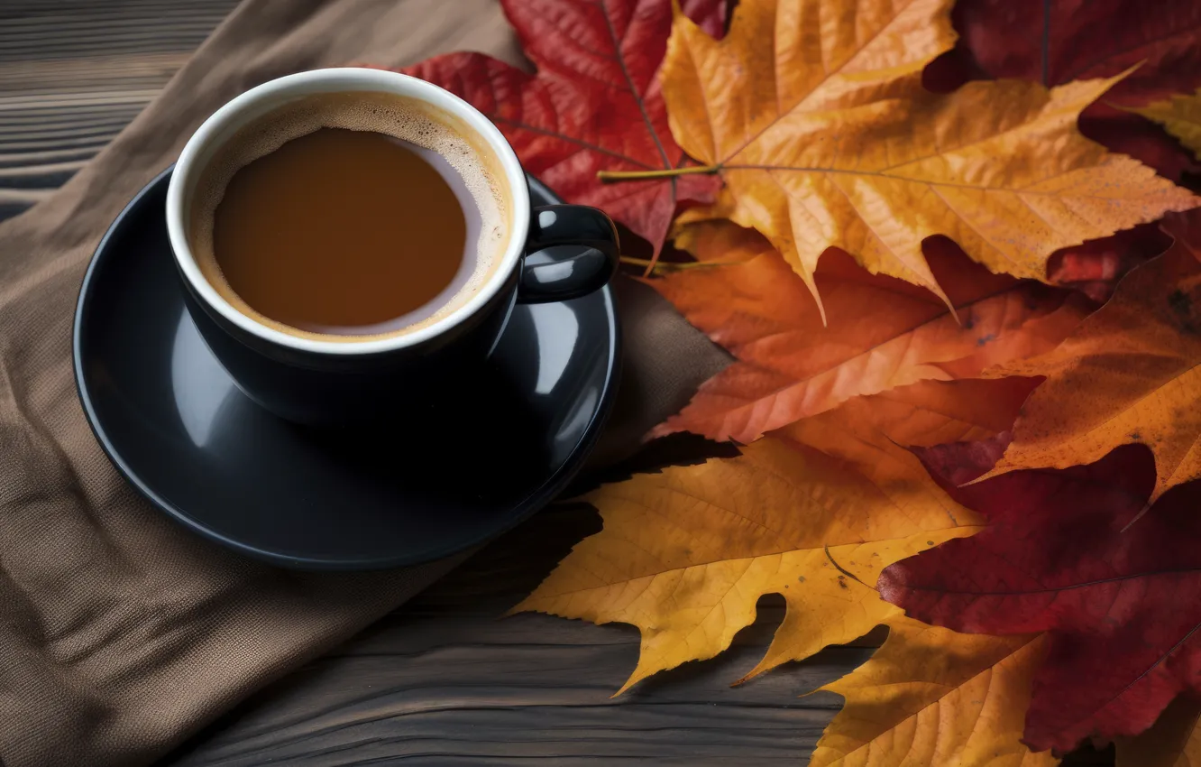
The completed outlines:
{"type": "Polygon", "coordinates": [[[432,83],[389,70],[365,67],[310,70],[287,75],[251,88],[204,120],[184,145],[167,186],[167,233],[175,263],[195,295],[234,326],[271,344],[298,351],[335,356],[372,355],[428,341],[446,333],[488,305],[508,283],[509,275],[525,251],[530,226],[527,189],[525,171],[521,170],[521,163],[504,136],[486,117],[459,96],[432,83]],[[196,184],[199,172],[203,171],[203,166],[199,165],[201,159],[211,156],[213,143],[227,137],[229,131],[241,127],[262,114],[262,105],[268,103],[271,105],[269,108],[274,108],[275,105],[281,105],[298,96],[348,91],[384,91],[416,99],[447,112],[476,131],[494,153],[504,173],[512,203],[509,206],[512,218],[509,243],[500,263],[491,269],[485,283],[467,301],[423,327],[408,333],[365,340],[353,340],[346,337],[342,337],[345,340],[321,340],[292,335],[243,314],[204,278],[187,242],[184,201],[187,198],[191,186],[196,184]]]}

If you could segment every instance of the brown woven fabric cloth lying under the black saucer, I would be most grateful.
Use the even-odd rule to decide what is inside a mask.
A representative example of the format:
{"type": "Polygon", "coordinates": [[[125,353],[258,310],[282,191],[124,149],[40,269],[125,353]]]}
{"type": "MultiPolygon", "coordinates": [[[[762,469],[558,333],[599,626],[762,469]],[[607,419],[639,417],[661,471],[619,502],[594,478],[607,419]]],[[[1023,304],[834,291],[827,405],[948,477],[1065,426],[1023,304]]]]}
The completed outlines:
{"type": "MultiPolygon", "coordinates": [[[[221,103],[265,79],[435,53],[520,54],[490,0],[247,0],[95,161],[0,225],[0,760],[151,761],[240,698],[396,607],[456,561],[277,570],[168,522],[84,422],[71,317],[107,225],[221,103]]],[[[653,292],[621,295],[628,452],[724,359],[653,292]]],[[[461,559],[461,558],[460,558],[461,559]]]]}

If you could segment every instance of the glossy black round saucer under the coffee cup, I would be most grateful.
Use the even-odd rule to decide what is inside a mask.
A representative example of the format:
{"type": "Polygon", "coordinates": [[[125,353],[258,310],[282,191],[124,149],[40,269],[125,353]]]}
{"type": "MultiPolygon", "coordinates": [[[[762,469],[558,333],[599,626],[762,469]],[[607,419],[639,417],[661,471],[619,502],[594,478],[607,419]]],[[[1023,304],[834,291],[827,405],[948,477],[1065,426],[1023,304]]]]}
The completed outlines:
{"type": "MultiPolygon", "coordinates": [[[[163,216],[169,176],[101,240],[74,321],[88,421],[155,506],[275,564],[393,567],[502,533],[580,468],[617,382],[609,289],[518,307],[492,358],[458,391],[414,402],[402,427],[306,430],[251,403],[184,309],[163,216]]],[[[530,188],[534,204],[558,202],[530,188]]]]}

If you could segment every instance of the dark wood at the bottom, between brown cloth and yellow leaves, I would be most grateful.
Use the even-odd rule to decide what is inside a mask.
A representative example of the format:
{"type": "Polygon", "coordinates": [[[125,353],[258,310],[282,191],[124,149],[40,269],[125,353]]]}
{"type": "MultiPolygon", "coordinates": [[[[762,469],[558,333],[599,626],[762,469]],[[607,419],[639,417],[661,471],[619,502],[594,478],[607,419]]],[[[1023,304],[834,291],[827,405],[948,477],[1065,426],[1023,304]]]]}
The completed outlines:
{"type": "Polygon", "coordinates": [[[795,763],[839,700],[799,697],[870,656],[832,648],[739,688],[783,602],[722,656],[610,696],[633,670],[631,626],[502,618],[599,527],[586,506],[544,511],[416,601],[226,717],[168,762],[255,765],[795,763]]]}

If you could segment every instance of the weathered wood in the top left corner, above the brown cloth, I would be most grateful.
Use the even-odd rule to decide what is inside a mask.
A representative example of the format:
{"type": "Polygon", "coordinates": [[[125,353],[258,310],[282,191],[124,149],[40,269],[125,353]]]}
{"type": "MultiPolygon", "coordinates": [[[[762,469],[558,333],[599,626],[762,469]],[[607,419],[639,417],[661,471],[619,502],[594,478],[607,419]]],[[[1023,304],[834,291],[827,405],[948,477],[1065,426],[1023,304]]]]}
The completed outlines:
{"type": "Polygon", "coordinates": [[[103,149],[234,5],[0,2],[0,220],[44,197],[103,149]]]}

